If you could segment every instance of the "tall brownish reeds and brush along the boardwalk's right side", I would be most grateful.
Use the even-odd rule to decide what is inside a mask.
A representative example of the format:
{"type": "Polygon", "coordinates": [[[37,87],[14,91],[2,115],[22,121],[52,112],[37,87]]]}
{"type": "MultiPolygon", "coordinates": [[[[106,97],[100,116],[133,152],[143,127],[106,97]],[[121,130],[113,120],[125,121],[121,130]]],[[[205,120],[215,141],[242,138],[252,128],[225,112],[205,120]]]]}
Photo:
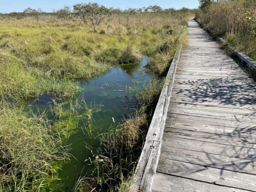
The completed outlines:
{"type": "Polygon", "coordinates": [[[255,10],[255,0],[222,0],[212,3],[204,12],[198,11],[196,17],[205,27],[213,29],[214,35],[223,36],[256,60],[256,38],[252,36],[255,24],[246,18],[246,12],[255,14],[255,10]]]}

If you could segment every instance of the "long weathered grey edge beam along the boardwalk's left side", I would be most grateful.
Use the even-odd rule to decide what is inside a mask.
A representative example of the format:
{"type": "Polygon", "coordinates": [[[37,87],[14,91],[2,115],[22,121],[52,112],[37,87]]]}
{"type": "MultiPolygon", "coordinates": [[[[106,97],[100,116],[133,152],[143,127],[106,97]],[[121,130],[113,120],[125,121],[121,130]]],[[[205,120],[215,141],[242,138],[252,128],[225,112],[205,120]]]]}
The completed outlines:
{"type": "Polygon", "coordinates": [[[180,57],[180,51],[181,46],[176,50],[168,74],[166,76],[166,81],[163,85],[163,89],[157,102],[157,107],[154,111],[154,115],[148,129],[143,151],[140,155],[140,159],[134,173],[130,192],[152,191],[154,175],[157,172],[157,164],[160,157],[163,131],[171,98],[175,72],[180,57]]]}

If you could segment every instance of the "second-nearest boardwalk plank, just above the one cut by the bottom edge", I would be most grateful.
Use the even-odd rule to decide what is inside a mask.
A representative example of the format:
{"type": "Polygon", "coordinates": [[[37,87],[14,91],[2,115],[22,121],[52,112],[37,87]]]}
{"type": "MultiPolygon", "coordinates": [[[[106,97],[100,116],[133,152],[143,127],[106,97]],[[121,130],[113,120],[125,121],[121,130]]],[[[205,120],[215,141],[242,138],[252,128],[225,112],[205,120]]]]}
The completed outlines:
{"type": "Polygon", "coordinates": [[[256,175],[216,169],[176,160],[160,159],[158,172],[222,186],[256,191],[256,175]]]}

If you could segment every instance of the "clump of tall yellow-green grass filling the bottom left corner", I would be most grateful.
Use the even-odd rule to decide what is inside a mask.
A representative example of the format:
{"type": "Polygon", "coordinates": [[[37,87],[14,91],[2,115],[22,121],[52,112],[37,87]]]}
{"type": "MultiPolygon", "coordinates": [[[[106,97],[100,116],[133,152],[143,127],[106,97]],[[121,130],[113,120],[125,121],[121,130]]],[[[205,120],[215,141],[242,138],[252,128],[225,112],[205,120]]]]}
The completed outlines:
{"type": "Polygon", "coordinates": [[[61,137],[63,128],[52,130],[44,114],[31,116],[20,108],[0,107],[0,189],[39,189],[42,177],[54,172],[53,160],[67,160],[61,137]]]}

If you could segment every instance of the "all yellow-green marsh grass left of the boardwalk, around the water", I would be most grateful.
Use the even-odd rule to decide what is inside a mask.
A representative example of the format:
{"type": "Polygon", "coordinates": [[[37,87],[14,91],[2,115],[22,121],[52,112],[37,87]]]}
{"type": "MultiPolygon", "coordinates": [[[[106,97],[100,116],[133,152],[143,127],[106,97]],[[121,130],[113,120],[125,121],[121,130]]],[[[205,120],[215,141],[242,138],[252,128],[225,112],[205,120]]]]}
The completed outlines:
{"type": "MultiPolygon", "coordinates": [[[[189,17],[111,15],[95,30],[55,17],[0,19],[0,190],[39,190],[55,172],[54,162],[69,159],[65,139],[83,128],[81,118],[90,123],[93,113],[73,101],[80,91],[79,79],[99,76],[114,64],[140,61],[143,55],[149,56],[148,71],[162,75],[177,46],[186,45],[189,17]],[[47,111],[53,119],[17,107],[42,93],[53,97],[54,106],[47,111]],[[83,116],[78,115],[81,108],[87,110],[83,116]]],[[[101,137],[94,161],[100,188],[127,188],[160,90],[159,81],[140,87],[137,111],[101,137]]]]}

